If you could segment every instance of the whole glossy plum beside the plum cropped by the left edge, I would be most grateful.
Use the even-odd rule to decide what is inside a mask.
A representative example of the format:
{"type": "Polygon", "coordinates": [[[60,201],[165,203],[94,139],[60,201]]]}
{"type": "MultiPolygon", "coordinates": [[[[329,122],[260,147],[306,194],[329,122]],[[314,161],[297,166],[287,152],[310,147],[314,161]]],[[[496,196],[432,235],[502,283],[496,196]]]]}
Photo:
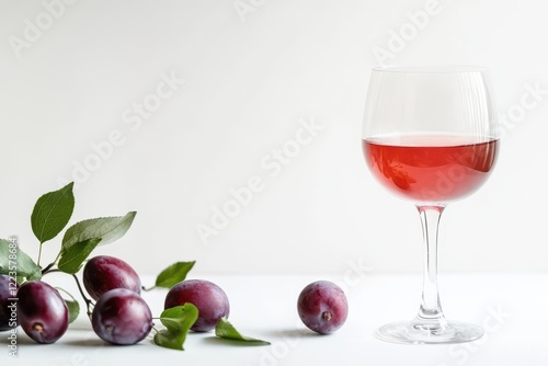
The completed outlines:
{"type": "Polygon", "coordinates": [[[69,322],[67,304],[59,293],[42,281],[30,281],[18,291],[21,328],[38,343],[54,343],[65,334],[69,322]]]}

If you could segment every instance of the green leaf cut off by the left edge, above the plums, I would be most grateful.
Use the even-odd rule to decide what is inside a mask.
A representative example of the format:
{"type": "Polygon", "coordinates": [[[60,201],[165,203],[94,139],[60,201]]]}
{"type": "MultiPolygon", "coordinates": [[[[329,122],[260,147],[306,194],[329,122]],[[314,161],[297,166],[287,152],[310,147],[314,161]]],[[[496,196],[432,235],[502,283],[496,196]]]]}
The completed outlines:
{"type": "Polygon", "coordinates": [[[16,277],[19,283],[42,278],[41,267],[16,243],[5,239],[0,239],[0,274],[16,277]]]}

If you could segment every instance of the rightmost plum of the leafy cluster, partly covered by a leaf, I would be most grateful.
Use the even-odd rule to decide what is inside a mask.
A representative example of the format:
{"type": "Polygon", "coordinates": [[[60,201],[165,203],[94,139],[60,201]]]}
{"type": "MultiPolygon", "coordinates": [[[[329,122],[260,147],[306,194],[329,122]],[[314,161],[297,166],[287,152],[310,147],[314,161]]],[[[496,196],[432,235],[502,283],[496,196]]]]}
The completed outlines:
{"type": "Polygon", "coordinates": [[[186,279],[173,286],[165,295],[164,309],[191,302],[198,309],[198,319],[191,330],[207,332],[220,318],[228,318],[230,305],[225,291],[205,279],[186,279]]]}

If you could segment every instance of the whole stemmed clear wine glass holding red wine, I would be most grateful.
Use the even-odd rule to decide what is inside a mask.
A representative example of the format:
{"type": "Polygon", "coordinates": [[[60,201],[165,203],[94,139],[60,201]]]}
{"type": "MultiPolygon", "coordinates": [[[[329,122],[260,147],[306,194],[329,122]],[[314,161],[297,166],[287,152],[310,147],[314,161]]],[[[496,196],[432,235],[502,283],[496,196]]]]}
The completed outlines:
{"type": "Polygon", "coordinates": [[[496,160],[499,139],[488,70],[479,67],[383,67],[369,80],[363,152],[375,179],[418,208],[425,244],[416,317],[377,330],[396,343],[460,343],[481,327],[448,321],[437,289],[437,232],[449,202],[478,190],[496,160]]]}

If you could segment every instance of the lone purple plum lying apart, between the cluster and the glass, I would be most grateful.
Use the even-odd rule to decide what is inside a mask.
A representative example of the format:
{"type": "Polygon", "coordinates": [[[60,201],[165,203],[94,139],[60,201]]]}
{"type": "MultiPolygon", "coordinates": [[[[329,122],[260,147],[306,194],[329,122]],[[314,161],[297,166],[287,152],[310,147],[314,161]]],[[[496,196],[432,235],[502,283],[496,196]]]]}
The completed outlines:
{"type": "Polygon", "coordinates": [[[349,314],[344,291],[329,281],[306,286],[297,300],[300,320],[312,331],[329,334],[341,328],[349,314]]]}

